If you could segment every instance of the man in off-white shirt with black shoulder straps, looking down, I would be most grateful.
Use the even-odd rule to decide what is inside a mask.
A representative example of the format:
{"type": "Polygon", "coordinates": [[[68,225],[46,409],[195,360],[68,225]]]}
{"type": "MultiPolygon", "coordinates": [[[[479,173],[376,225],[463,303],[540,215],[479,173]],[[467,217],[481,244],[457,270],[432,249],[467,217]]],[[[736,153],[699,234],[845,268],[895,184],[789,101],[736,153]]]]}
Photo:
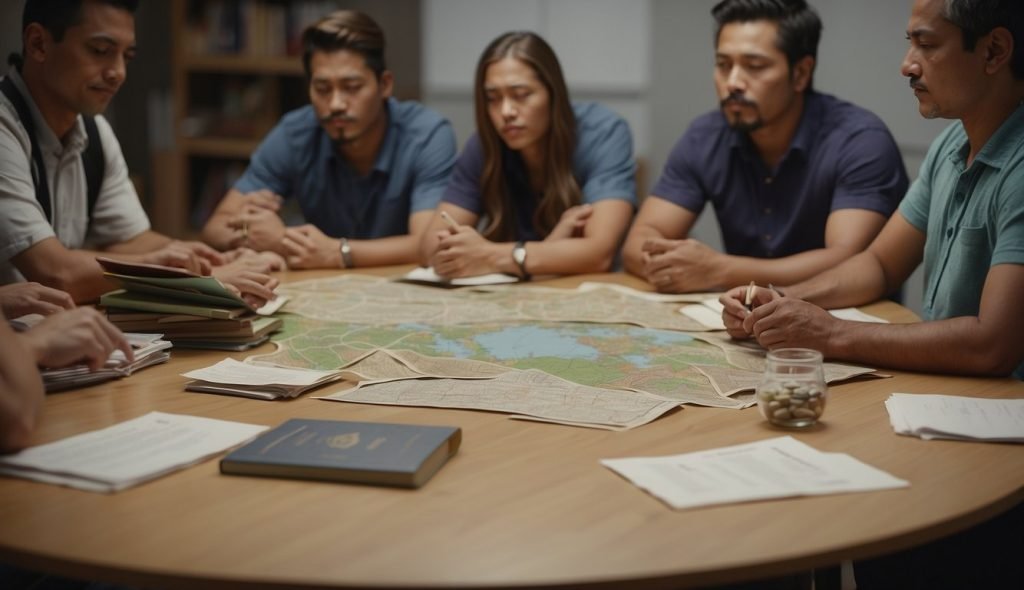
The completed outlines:
{"type": "Polygon", "coordinates": [[[0,82],[0,284],[28,279],[89,301],[113,288],[95,260],[102,254],[204,273],[217,266],[214,275],[253,303],[272,298],[276,280],[263,273],[266,260],[150,229],[121,146],[99,115],[134,55],[136,4],[26,2],[24,56],[12,56],[16,68],[0,82]],[[90,133],[100,151],[87,150],[90,133]],[[94,198],[83,154],[98,155],[94,198]]]}

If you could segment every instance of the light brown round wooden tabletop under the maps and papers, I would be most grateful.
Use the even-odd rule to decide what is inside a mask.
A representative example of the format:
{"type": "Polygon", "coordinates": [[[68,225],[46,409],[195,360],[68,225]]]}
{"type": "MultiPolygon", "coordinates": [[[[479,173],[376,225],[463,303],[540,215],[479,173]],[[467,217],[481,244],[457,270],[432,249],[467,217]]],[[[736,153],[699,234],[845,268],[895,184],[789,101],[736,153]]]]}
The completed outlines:
{"type": "MultiPolygon", "coordinates": [[[[553,284],[595,279],[639,286],[623,276],[553,284]]],[[[914,320],[894,303],[865,310],[914,320]]],[[[180,373],[221,357],[174,350],[170,363],[130,378],[50,395],[34,444],[161,411],[266,425],[292,417],[456,425],[462,449],[419,491],[220,475],[215,460],[113,495],[0,478],[0,561],[150,587],[679,588],[902,549],[1024,500],[1024,446],[898,436],[883,406],[893,391],[1024,397],[1024,383],[1010,379],[887,371],[891,378],[833,385],[824,422],[793,432],[909,488],[677,512],[598,461],[791,432],[753,408],[687,407],[609,432],[486,412],[183,390],[180,373]]]]}

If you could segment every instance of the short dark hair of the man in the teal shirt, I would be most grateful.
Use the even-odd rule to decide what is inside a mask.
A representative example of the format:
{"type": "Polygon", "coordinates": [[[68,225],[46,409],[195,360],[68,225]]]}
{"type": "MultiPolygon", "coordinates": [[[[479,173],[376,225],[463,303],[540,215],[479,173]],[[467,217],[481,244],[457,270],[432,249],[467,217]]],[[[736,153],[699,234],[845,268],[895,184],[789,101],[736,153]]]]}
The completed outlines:
{"type": "Polygon", "coordinates": [[[978,40],[1002,27],[1014,37],[1010,69],[1024,80],[1024,2],[1021,0],[945,0],[942,15],[961,30],[964,49],[974,51],[978,40]]]}

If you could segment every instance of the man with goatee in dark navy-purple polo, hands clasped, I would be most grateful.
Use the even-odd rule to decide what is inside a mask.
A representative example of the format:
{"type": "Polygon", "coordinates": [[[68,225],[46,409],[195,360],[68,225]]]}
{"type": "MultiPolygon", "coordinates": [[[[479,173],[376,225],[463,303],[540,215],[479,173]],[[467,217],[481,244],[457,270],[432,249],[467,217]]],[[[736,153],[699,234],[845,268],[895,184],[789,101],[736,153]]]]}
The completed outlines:
{"type": "Polygon", "coordinates": [[[667,293],[812,277],[867,247],[908,184],[878,117],[812,89],[821,22],[803,0],[724,0],[712,14],[721,110],[673,149],[623,249],[667,293]],[[725,253],[687,239],[709,202],[725,253]]]}

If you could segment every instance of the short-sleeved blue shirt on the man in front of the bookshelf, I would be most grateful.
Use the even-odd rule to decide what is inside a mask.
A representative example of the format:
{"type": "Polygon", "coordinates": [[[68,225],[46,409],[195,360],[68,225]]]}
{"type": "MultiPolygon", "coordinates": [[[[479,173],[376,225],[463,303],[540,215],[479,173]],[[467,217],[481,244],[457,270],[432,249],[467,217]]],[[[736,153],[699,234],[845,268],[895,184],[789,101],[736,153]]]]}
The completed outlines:
{"type": "Polygon", "coordinates": [[[409,234],[409,216],[440,201],[456,159],[452,125],[412,101],[387,101],[388,128],[374,168],[359,176],[338,155],[310,106],[285,115],[234,183],[297,199],[328,236],[358,240],[409,234]]]}

